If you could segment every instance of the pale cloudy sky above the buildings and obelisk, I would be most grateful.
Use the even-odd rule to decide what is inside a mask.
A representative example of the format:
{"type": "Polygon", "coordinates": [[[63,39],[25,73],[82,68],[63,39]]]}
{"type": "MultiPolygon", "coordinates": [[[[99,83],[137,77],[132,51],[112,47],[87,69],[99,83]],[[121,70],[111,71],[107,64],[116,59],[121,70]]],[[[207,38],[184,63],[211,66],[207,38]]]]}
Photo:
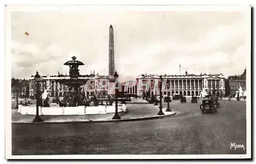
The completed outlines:
{"type": "Polygon", "coordinates": [[[108,75],[110,25],[122,82],[179,75],[179,65],[181,74],[241,75],[247,20],[241,11],[12,12],[12,77],[69,74],[72,56],[80,74],[108,75]]]}

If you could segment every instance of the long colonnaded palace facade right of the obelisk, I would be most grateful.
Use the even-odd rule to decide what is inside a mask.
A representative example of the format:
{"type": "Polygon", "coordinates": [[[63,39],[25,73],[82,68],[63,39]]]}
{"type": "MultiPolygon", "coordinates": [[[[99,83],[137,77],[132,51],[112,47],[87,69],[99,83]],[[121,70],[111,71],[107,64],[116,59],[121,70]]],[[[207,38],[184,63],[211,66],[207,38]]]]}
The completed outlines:
{"type": "MultiPolygon", "coordinates": [[[[224,76],[219,75],[162,75],[162,93],[163,96],[169,94],[179,93],[183,96],[200,96],[200,92],[203,88],[211,94],[225,93],[224,76]],[[167,85],[169,84],[169,89],[167,85]]],[[[150,95],[159,95],[160,87],[158,75],[139,75],[137,78],[137,94],[142,96],[146,92],[150,92],[150,95]]]]}

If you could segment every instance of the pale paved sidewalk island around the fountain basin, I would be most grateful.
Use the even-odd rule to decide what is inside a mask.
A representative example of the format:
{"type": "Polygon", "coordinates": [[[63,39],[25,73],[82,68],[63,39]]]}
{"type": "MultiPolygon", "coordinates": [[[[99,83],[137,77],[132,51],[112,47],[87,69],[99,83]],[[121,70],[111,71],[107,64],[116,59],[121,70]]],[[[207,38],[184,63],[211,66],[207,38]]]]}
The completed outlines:
{"type": "MultiPolygon", "coordinates": [[[[127,112],[119,112],[120,120],[112,120],[115,113],[108,114],[88,114],[88,115],[40,115],[43,122],[39,123],[92,123],[92,122],[122,122],[159,119],[174,115],[175,112],[165,112],[165,115],[157,115],[159,108],[154,104],[127,104],[127,112]]],[[[17,113],[17,109],[12,109],[12,123],[33,123],[35,115],[22,115],[17,113]]],[[[38,124],[38,123],[35,123],[38,124]]]]}

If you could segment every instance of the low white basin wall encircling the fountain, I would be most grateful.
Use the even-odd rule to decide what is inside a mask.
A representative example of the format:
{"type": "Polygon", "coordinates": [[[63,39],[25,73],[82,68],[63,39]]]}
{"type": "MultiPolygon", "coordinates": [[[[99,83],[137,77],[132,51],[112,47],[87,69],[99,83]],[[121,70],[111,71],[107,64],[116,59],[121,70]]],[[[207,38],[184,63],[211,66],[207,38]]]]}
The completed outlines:
{"type": "MultiPolygon", "coordinates": [[[[85,114],[106,114],[115,113],[115,104],[112,106],[77,106],[77,107],[59,107],[58,105],[50,105],[50,107],[39,106],[39,115],[85,115],[85,114]]],[[[126,104],[118,104],[118,112],[126,111],[126,104]]],[[[36,114],[36,105],[22,106],[18,105],[20,114],[36,114]]]]}

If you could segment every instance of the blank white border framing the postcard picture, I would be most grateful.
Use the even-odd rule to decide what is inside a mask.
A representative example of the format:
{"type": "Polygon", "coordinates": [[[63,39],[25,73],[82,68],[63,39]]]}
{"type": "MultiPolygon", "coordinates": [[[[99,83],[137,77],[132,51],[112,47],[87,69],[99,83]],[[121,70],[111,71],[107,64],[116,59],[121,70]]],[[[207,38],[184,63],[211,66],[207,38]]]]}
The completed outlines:
{"type": "MultiPolygon", "coordinates": [[[[248,28],[250,28],[250,6],[8,6],[6,8],[6,158],[7,159],[204,159],[204,158],[250,158],[251,157],[251,90],[247,89],[246,120],[247,120],[247,154],[238,155],[11,155],[11,12],[12,11],[246,11],[248,14],[248,28]]],[[[247,34],[247,88],[251,88],[250,49],[251,32],[247,34]]]]}

